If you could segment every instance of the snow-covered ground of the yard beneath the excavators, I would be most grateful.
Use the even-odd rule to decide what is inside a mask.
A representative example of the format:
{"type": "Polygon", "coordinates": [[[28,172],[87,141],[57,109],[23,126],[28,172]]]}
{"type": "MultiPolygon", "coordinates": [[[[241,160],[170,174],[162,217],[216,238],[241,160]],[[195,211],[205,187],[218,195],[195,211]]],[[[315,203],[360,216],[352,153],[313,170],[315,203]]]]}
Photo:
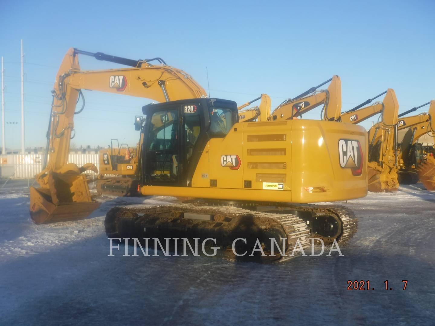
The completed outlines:
{"type": "Polygon", "coordinates": [[[359,219],[344,257],[276,265],[109,257],[110,207],[171,198],[101,200],[86,220],[35,225],[27,180],[0,190],[0,325],[434,324],[435,193],[419,185],[343,202],[359,219]]]}

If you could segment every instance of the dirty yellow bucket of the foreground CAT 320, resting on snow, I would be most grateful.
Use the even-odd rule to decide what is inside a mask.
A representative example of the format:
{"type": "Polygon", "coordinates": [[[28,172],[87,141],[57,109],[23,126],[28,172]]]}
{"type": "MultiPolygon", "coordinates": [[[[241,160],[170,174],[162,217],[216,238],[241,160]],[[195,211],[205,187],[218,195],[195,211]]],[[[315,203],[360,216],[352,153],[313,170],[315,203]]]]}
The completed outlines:
{"type": "Polygon", "coordinates": [[[81,220],[100,206],[92,200],[84,174],[47,174],[48,189],[30,187],[30,217],[34,223],[81,220]]]}

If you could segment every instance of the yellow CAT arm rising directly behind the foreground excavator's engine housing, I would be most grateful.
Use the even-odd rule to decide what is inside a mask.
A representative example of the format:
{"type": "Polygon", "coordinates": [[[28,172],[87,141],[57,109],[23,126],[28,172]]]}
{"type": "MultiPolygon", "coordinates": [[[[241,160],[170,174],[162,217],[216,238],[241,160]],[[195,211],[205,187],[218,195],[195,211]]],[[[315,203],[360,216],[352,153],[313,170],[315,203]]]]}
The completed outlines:
{"type": "Polygon", "coordinates": [[[321,119],[338,121],[341,115],[341,81],[340,77],[333,76],[318,86],[311,87],[304,93],[292,99],[285,100],[271,114],[272,120],[289,120],[302,116],[303,113],[324,105],[321,119]],[[329,83],[326,90],[319,87],[329,83]],[[311,95],[310,95],[311,94],[311,95]]]}

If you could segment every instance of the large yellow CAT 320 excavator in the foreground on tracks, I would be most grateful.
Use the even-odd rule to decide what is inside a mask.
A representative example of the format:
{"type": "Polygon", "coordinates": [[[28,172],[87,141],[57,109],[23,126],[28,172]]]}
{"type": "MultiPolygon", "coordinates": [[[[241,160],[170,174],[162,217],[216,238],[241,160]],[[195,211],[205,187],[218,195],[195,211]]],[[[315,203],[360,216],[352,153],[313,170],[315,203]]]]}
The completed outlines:
{"type": "Polygon", "coordinates": [[[141,131],[139,188],[144,195],[194,198],[173,205],[115,207],[105,220],[108,236],[212,237],[223,248],[244,238],[236,252],[258,241],[270,252],[272,238],[282,248],[274,258],[281,260],[297,244],[309,246],[311,237],[331,243],[353,236],[357,219],[350,210],[306,203],[367,194],[364,128],[321,120],[240,123],[235,102],[201,97],[205,92],[187,74],[174,76],[167,66],[149,61],[68,51],[55,84],[49,163],[38,175],[41,188],[30,193],[35,223],[81,219],[98,206],[80,174],[94,167],[67,165],[65,155],[77,96],[81,89],[93,89],[163,102],[144,106],[146,119],[135,119],[141,131]],[[80,53],[133,68],[80,71],[80,53]],[[187,99],[174,100],[188,92],[187,99]]]}

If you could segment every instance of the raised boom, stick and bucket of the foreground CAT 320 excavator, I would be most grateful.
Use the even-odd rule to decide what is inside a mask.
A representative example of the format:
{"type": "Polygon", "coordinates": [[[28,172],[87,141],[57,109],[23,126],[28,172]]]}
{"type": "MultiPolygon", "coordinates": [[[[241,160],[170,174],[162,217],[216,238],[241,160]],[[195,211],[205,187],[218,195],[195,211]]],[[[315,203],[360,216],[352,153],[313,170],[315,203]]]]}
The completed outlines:
{"type": "Polygon", "coordinates": [[[85,170],[97,172],[90,163],[78,167],[68,163],[74,115],[81,90],[99,90],[139,96],[158,102],[207,97],[205,90],[187,73],[167,66],[161,58],[130,60],[71,48],[56,75],[44,168],[36,176],[40,188],[30,187],[30,216],[35,223],[78,220],[89,215],[99,203],[92,200],[85,170]],[[130,67],[82,71],[78,55],[90,55],[130,67]],[[150,61],[157,60],[159,65],[150,61]]]}

